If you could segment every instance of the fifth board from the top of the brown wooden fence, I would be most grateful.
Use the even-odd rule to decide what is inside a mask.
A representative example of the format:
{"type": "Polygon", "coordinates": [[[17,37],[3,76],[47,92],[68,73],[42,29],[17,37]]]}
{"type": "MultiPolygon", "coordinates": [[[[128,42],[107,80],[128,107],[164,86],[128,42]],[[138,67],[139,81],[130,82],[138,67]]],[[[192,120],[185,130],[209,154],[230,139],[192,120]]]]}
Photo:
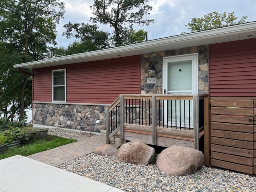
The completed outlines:
{"type": "Polygon", "coordinates": [[[253,134],[250,134],[250,133],[242,133],[242,132],[234,132],[234,131],[223,131],[223,130],[213,130],[212,129],[212,133],[211,134],[212,134],[212,137],[221,137],[221,138],[253,141],[253,134]]]}

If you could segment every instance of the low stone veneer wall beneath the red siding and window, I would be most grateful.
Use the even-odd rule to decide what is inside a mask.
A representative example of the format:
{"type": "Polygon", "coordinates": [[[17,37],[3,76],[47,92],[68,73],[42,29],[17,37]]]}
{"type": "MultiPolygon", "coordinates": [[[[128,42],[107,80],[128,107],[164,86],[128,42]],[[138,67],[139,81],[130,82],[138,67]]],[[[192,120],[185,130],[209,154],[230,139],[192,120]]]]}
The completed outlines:
{"type": "Polygon", "coordinates": [[[107,107],[83,104],[33,103],[32,121],[33,124],[104,133],[107,107]]]}

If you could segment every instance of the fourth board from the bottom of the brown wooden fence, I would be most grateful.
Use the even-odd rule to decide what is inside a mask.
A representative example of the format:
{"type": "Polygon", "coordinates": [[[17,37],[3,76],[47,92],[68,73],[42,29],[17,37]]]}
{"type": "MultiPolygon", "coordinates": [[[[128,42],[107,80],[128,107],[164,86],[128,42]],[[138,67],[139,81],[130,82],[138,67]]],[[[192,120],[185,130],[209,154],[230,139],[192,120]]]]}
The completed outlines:
{"type": "Polygon", "coordinates": [[[250,149],[250,150],[253,149],[253,142],[250,142],[250,141],[241,141],[241,140],[234,140],[234,139],[212,137],[211,142],[212,144],[219,144],[224,146],[237,147],[237,148],[250,149]]]}

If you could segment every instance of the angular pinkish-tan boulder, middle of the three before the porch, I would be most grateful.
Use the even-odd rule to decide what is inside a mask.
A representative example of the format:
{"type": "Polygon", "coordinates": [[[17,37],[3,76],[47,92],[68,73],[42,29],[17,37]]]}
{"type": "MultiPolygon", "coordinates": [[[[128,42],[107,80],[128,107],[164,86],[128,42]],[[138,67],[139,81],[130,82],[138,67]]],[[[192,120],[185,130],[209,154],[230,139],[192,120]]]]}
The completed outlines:
{"type": "Polygon", "coordinates": [[[116,159],[126,163],[147,165],[154,163],[155,154],[154,148],[134,140],[121,145],[116,159]]]}

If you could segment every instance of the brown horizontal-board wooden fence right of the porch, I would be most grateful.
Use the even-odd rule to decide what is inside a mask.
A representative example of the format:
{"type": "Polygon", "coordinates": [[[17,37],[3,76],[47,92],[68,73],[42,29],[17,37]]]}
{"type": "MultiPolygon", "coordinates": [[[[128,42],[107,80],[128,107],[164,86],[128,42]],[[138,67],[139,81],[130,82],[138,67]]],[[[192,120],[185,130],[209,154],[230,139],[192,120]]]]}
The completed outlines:
{"type": "Polygon", "coordinates": [[[256,174],[256,100],[210,98],[210,164],[256,174]]]}

